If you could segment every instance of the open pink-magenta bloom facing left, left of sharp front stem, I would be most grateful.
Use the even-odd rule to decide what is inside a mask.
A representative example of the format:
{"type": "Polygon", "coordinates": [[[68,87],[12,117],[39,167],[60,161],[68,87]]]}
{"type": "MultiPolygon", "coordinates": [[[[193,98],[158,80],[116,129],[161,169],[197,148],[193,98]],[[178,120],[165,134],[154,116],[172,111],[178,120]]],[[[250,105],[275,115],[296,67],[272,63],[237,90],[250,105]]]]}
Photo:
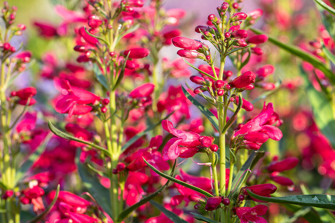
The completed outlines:
{"type": "Polygon", "coordinates": [[[177,159],[177,157],[189,158],[198,152],[198,146],[201,145],[199,134],[175,129],[172,122],[168,120],[162,121],[162,127],[165,131],[177,136],[165,144],[163,160],[177,159]]]}

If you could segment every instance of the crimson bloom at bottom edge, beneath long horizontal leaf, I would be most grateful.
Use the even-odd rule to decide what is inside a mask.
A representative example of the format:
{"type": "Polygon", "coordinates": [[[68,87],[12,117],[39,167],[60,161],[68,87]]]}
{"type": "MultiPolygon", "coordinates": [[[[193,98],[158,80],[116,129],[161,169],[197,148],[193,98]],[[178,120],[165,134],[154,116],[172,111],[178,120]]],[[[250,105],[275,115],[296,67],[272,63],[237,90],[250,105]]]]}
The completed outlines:
{"type": "Polygon", "coordinates": [[[264,218],[260,217],[260,215],[264,215],[268,210],[268,207],[265,205],[256,205],[253,208],[234,207],[233,210],[236,211],[236,214],[241,220],[241,223],[267,223],[264,218]]]}

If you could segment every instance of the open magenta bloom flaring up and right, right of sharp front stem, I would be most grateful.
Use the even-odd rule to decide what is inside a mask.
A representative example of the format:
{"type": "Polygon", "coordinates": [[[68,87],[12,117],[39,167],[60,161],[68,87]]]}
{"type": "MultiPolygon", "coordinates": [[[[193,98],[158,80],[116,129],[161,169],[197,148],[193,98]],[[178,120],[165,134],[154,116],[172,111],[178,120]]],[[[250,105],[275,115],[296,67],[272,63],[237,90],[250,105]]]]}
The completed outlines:
{"type": "Polygon", "coordinates": [[[272,114],[274,114],[273,104],[268,103],[267,106],[263,106],[263,110],[261,113],[247,122],[241,129],[239,129],[233,136],[245,134],[245,133],[256,133],[262,132],[266,133],[271,139],[280,140],[283,137],[282,132],[275,126],[266,125],[268,120],[271,118],[272,114]]]}

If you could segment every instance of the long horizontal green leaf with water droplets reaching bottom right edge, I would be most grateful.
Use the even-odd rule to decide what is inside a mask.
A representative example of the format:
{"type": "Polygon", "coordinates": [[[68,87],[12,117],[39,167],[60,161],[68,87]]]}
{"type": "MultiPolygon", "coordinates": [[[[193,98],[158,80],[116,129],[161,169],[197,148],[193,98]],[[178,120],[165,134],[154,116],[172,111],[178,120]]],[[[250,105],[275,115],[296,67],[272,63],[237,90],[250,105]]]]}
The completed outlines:
{"type": "Polygon", "coordinates": [[[248,194],[261,201],[273,203],[295,204],[307,207],[325,208],[335,210],[335,195],[327,194],[308,194],[308,195],[289,195],[284,197],[269,198],[259,196],[248,190],[248,194]]]}

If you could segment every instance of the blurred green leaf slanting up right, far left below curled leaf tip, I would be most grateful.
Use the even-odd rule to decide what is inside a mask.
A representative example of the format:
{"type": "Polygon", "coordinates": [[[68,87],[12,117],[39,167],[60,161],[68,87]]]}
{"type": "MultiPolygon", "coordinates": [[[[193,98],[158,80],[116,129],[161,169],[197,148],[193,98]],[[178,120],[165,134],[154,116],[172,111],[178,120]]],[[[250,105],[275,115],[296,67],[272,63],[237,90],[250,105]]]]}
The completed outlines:
{"type": "Polygon", "coordinates": [[[37,159],[41,156],[41,154],[44,152],[45,148],[47,147],[47,144],[52,137],[52,134],[48,134],[44,141],[37,147],[37,149],[30,154],[30,156],[27,158],[24,163],[18,168],[15,174],[15,182],[14,184],[16,185],[22,178],[23,176],[28,172],[28,170],[31,168],[32,164],[34,164],[37,159]]]}

